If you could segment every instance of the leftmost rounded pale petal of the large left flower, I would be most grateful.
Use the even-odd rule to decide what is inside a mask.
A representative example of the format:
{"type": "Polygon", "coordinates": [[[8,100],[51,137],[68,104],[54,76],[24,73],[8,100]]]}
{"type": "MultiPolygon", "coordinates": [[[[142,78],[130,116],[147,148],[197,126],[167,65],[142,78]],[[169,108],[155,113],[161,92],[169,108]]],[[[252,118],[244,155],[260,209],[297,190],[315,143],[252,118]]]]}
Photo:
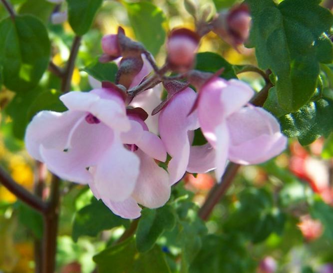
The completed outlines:
{"type": "Polygon", "coordinates": [[[75,122],[82,116],[80,112],[66,111],[57,113],[41,111],[28,124],[24,142],[28,153],[39,161],[39,145],[45,148],[64,149],[68,134],[75,122]]]}

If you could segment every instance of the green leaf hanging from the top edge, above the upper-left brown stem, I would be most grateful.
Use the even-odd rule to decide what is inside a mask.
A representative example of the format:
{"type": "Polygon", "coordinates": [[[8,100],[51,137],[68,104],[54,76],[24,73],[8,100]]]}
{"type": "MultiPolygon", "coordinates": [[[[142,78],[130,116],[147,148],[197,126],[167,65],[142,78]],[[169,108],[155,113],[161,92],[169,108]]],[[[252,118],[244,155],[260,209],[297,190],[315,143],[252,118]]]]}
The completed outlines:
{"type": "Polygon", "coordinates": [[[67,0],[68,21],[74,32],[82,36],[88,32],[103,0],[67,0]]]}

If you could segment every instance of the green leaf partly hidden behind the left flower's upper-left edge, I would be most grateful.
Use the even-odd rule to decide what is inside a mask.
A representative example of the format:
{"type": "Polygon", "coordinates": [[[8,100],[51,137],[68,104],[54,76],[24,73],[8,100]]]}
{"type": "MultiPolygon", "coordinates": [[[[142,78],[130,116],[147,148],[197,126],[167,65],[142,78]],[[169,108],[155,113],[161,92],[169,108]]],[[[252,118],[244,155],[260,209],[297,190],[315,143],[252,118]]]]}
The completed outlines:
{"type": "Polygon", "coordinates": [[[61,95],[63,95],[63,93],[54,89],[40,93],[30,105],[28,110],[28,120],[30,120],[35,114],[42,110],[50,110],[55,112],[66,111],[67,108],[59,99],[59,96],[61,95]]]}

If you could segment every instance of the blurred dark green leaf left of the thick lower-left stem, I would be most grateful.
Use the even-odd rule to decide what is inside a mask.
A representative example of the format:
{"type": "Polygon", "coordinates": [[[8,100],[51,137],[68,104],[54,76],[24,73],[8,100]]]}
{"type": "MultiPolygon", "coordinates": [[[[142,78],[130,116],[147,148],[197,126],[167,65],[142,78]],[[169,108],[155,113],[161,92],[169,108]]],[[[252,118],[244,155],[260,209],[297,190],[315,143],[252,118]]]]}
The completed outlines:
{"type": "Polygon", "coordinates": [[[43,235],[43,218],[41,214],[20,201],[16,202],[16,210],[19,222],[36,238],[41,239],[43,235]]]}

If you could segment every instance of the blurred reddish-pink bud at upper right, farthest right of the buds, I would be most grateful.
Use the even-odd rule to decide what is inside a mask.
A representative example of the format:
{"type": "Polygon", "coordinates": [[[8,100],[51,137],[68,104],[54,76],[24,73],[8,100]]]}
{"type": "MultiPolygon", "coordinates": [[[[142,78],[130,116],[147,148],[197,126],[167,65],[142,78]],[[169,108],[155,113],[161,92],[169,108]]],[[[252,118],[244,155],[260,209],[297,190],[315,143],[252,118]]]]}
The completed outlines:
{"type": "Polygon", "coordinates": [[[248,39],[250,26],[251,17],[246,4],[220,12],[213,21],[213,31],[234,47],[248,39]]]}

